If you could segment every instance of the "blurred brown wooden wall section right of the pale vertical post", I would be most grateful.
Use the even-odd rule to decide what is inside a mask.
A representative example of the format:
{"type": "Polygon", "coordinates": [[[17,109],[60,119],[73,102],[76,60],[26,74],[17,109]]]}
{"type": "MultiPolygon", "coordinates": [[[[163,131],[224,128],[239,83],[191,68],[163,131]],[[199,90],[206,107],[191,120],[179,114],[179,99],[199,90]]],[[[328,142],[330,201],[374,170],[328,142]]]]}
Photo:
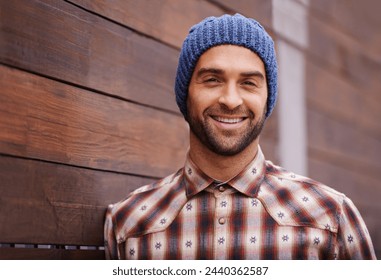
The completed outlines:
{"type": "Polygon", "coordinates": [[[310,1],[309,175],[350,197],[381,258],[381,3],[310,1]]]}

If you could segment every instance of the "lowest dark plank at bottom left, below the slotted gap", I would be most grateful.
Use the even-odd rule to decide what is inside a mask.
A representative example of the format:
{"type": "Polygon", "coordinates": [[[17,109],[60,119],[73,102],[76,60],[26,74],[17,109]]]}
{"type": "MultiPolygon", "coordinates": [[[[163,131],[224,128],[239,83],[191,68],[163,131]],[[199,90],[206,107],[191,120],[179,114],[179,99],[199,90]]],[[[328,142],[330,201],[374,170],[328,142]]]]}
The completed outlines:
{"type": "Polygon", "coordinates": [[[104,251],[0,248],[0,260],[102,260],[104,251]]]}

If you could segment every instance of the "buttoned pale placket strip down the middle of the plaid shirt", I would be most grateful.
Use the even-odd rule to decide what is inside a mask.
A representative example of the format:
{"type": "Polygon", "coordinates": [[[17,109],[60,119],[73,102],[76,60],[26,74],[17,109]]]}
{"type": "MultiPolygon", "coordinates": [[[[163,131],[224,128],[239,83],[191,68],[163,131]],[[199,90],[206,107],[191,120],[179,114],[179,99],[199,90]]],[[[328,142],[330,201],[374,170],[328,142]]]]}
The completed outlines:
{"type": "Polygon", "coordinates": [[[229,209],[231,208],[228,186],[220,185],[214,189],[216,199],[214,215],[214,259],[226,259],[228,256],[229,209]]]}

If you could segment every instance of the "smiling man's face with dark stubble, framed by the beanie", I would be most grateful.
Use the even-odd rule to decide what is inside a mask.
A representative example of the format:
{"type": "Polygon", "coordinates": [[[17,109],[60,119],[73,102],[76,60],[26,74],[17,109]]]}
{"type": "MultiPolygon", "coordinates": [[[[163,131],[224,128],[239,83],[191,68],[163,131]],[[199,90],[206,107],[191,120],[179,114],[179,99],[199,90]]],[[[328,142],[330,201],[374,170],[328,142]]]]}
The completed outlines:
{"type": "Polygon", "coordinates": [[[236,155],[258,141],[266,102],[262,60],[244,47],[216,46],[201,55],[193,72],[187,121],[201,145],[236,155]]]}

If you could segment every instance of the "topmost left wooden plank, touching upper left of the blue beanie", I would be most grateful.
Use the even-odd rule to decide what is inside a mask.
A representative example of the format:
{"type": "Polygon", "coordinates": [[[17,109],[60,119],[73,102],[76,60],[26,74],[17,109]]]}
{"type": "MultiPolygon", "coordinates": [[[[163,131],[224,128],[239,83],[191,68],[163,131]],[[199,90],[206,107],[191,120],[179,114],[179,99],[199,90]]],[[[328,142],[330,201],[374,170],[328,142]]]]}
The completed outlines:
{"type": "Polygon", "coordinates": [[[189,28],[223,11],[207,1],[194,0],[69,0],[170,45],[180,47],[189,28]]]}

